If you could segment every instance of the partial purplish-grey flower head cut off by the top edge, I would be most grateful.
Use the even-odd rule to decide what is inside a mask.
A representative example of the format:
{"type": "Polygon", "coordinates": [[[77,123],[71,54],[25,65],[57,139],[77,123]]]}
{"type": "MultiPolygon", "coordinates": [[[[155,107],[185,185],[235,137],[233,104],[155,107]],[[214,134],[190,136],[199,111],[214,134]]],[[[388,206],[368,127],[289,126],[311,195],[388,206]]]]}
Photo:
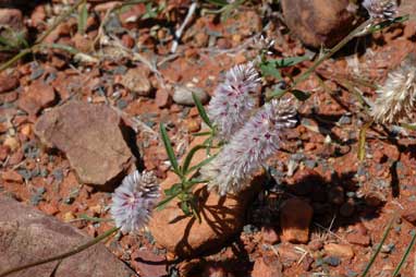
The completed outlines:
{"type": "Polygon", "coordinates": [[[363,7],[374,20],[391,21],[397,14],[396,0],[364,0],[363,7]]]}

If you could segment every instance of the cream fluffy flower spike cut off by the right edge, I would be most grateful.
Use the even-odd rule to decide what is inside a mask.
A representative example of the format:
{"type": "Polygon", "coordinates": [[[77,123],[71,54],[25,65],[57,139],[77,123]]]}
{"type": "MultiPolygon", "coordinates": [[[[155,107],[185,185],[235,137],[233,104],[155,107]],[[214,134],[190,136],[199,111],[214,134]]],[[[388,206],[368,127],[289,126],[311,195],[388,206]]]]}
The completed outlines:
{"type": "Polygon", "coordinates": [[[389,73],[371,109],[375,121],[397,123],[408,118],[416,108],[416,55],[409,55],[402,64],[389,73]]]}

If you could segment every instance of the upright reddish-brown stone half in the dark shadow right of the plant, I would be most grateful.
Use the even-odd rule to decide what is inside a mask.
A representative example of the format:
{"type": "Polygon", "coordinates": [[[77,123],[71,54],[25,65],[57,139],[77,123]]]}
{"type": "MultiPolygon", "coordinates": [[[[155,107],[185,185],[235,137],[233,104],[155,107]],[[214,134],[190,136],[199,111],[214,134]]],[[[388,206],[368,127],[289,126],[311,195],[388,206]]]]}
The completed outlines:
{"type": "Polygon", "coordinates": [[[282,241],[307,243],[313,215],[313,207],[303,200],[290,198],[284,202],[280,212],[282,241]]]}

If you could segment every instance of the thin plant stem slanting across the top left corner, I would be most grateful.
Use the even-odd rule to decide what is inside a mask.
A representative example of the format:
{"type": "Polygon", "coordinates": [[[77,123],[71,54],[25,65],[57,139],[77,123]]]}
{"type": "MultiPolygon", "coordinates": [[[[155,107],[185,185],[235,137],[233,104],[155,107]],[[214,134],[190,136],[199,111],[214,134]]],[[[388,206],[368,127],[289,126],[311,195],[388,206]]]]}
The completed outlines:
{"type": "Polygon", "coordinates": [[[66,20],[66,17],[70,16],[84,2],[86,2],[86,0],[78,0],[74,5],[71,7],[70,10],[68,10],[65,13],[63,13],[61,16],[59,16],[53,22],[53,24],[47,31],[45,31],[45,33],[40,37],[38,37],[38,39],[36,39],[35,44],[32,47],[26,48],[26,49],[22,49],[19,53],[16,53],[9,61],[1,64],[0,65],[0,72],[4,71],[9,67],[13,65],[15,62],[17,62],[20,59],[22,59],[26,55],[34,52],[38,48],[38,46],[45,40],[45,38],[47,38],[47,36],[49,36],[50,33],[52,33],[52,31],[56,29],[59,24],[61,24],[64,20],[66,20]]]}

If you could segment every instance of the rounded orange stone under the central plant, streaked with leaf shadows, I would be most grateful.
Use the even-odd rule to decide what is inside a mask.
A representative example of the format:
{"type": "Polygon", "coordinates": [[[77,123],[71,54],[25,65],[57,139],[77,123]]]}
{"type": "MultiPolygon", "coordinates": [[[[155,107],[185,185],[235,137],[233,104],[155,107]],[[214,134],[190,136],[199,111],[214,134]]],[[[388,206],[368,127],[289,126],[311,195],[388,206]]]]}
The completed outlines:
{"type": "MultiPolygon", "coordinates": [[[[206,138],[195,137],[188,149],[201,144],[206,138]]],[[[206,152],[197,150],[191,166],[204,159],[206,152]]],[[[161,191],[171,188],[178,181],[174,173],[168,172],[167,179],[161,183],[161,191]]],[[[220,197],[215,192],[209,193],[206,185],[197,185],[194,192],[199,196],[200,222],[192,216],[184,216],[178,200],[173,200],[163,209],[154,213],[149,230],[160,246],[179,256],[195,256],[204,251],[219,250],[243,228],[246,207],[264,181],[264,176],[257,176],[253,180],[253,190],[227,197],[220,197]]]]}

